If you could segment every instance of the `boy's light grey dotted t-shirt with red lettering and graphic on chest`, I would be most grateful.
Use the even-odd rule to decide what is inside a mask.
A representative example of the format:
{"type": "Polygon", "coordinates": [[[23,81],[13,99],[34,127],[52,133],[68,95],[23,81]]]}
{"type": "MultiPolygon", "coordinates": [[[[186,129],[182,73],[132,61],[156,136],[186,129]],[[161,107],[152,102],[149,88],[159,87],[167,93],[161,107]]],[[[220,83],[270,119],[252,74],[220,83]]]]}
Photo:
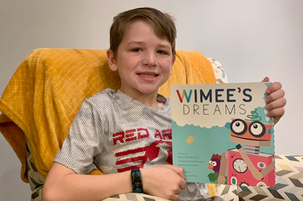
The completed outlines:
{"type": "MultiPolygon", "coordinates": [[[[85,98],[54,161],[78,174],[172,164],[171,99],[157,100],[164,105],[152,108],[112,89],[85,98]]],[[[180,200],[198,197],[208,197],[205,184],[187,183],[180,200]]]]}

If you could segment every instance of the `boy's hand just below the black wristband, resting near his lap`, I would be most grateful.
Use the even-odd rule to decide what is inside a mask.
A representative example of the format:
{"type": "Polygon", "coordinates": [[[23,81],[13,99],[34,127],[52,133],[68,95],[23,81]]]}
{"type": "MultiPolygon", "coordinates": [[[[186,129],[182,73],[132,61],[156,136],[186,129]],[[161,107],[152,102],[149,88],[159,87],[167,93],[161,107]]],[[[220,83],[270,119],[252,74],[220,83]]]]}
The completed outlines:
{"type": "Polygon", "coordinates": [[[143,191],[149,195],[168,200],[179,200],[181,190],[186,188],[182,167],[171,164],[140,169],[143,191]]]}

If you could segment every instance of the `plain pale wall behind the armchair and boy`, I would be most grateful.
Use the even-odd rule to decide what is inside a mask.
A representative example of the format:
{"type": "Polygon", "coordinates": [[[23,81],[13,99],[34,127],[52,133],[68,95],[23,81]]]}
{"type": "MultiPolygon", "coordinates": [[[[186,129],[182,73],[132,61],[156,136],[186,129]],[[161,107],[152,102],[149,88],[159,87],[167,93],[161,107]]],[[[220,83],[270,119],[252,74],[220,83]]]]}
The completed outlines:
{"type": "MultiPolygon", "coordinates": [[[[35,48],[108,48],[112,18],[152,6],[171,13],[177,49],[219,60],[230,82],[265,76],[286,91],[276,125],[276,153],[303,155],[303,1],[0,1],[0,94],[23,58],[35,48]]],[[[0,135],[0,200],[30,200],[20,162],[0,135]]]]}

